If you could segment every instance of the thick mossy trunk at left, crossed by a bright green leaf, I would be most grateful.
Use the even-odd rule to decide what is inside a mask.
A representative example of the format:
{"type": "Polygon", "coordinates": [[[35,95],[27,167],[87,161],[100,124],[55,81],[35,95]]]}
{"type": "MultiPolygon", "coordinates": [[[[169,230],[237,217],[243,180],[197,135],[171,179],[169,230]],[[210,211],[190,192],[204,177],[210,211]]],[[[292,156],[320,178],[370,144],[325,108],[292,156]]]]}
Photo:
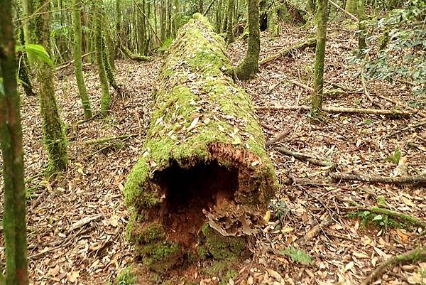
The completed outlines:
{"type": "MultiPolygon", "coordinates": [[[[36,41],[50,50],[50,0],[38,1],[35,8],[40,12],[35,16],[36,41]]],[[[44,143],[49,156],[49,171],[63,171],[68,165],[67,139],[56,102],[55,72],[53,66],[40,59],[35,60],[35,69],[40,86],[38,97],[43,117],[44,143]]]]}

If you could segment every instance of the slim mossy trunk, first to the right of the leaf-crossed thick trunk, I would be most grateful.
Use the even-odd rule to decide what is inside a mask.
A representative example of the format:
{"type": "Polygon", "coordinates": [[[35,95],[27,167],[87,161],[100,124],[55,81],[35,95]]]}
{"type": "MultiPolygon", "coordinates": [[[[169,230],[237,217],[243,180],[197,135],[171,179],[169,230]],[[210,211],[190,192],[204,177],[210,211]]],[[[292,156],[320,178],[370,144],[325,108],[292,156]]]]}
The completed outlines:
{"type": "Polygon", "coordinates": [[[74,0],[74,9],[72,10],[72,21],[74,25],[74,72],[77,80],[78,92],[82,100],[84,119],[92,117],[92,107],[90,107],[89,95],[87,95],[86,85],[84,84],[82,69],[82,23],[81,23],[81,0],[74,0]]]}

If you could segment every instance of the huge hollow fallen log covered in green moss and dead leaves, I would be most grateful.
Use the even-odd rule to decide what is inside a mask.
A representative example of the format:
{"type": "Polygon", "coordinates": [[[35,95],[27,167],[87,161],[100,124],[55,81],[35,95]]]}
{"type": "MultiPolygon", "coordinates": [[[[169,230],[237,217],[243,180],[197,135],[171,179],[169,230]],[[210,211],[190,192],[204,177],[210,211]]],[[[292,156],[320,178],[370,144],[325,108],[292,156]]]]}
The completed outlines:
{"type": "Polygon", "coordinates": [[[133,211],[127,237],[155,271],[241,254],[276,188],[253,104],[234,85],[225,50],[195,14],[156,82],[143,155],[124,189],[133,211]]]}

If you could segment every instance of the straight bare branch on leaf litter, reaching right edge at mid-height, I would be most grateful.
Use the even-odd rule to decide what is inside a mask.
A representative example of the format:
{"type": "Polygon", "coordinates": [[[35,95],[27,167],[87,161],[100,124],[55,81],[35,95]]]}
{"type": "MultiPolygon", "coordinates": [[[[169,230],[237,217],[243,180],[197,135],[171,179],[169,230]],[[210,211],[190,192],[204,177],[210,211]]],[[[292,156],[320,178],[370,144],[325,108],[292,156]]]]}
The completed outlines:
{"type": "Polygon", "coordinates": [[[330,177],[336,181],[361,181],[368,183],[390,183],[390,184],[419,184],[426,183],[426,176],[367,176],[349,173],[331,173],[330,177]]]}

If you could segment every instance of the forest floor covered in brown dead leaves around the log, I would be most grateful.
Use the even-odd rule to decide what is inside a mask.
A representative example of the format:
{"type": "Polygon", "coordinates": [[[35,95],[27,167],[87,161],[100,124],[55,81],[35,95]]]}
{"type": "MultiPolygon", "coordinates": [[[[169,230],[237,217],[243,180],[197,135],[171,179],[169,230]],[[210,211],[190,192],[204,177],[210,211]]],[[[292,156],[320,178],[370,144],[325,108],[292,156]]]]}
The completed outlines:
{"type": "MultiPolygon", "coordinates": [[[[305,36],[305,30],[290,25],[283,26],[276,38],[262,33],[261,58],[305,36]]],[[[333,82],[349,92],[326,97],[324,106],[373,108],[363,92],[359,70],[347,62],[356,49],[354,31],[330,26],[327,36],[325,88],[334,88],[333,82]]],[[[229,46],[234,64],[245,53],[243,41],[229,46]]],[[[307,104],[310,93],[289,80],[312,86],[314,60],[315,50],[307,48],[274,60],[261,68],[254,80],[238,84],[256,106],[307,104]]],[[[126,175],[141,154],[159,67],[160,58],[150,63],[118,60],[116,79],[124,85],[127,97],[114,100],[109,117],[84,123],[77,123],[82,119],[82,110],[72,69],[57,72],[56,94],[68,126],[70,168],[50,180],[40,175],[47,157],[38,101],[36,97],[23,97],[31,284],[107,284],[133,263],[131,247],[124,237],[129,213],[122,190],[126,175]],[[107,144],[85,143],[125,134],[131,136],[107,144]]],[[[96,68],[89,66],[84,74],[97,111],[101,91],[96,68]]],[[[403,82],[367,80],[366,88],[374,102],[387,109],[395,105],[378,95],[403,102],[401,109],[415,99],[410,95],[410,86],[403,82]]],[[[400,150],[409,175],[419,175],[426,169],[426,127],[409,127],[420,122],[418,115],[395,118],[327,114],[324,122],[312,124],[303,111],[258,110],[257,114],[267,140],[288,132],[275,146],[326,158],[337,171],[395,176],[397,164],[386,159],[395,149],[400,150]]],[[[425,235],[418,235],[416,227],[364,226],[360,218],[347,216],[354,205],[368,208],[381,203],[426,220],[425,187],[332,181],[329,173],[335,171],[333,168],[284,156],[272,147],[268,151],[280,179],[280,190],[271,202],[268,225],[250,246],[251,259],[239,264],[239,274],[231,280],[223,280],[223,272],[217,278],[203,280],[197,274],[200,284],[218,284],[219,279],[225,281],[223,284],[360,284],[383,260],[426,243],[425,235]],[[330,218],[329,225],[300,247],[312,257],[313,264],[302,265],[271,253],[271,249],[285,249],[330,218]]],[[[376,219],[386,222],[384,217],[376,219]]],[[[0,239],[0,260],[4,260],[4,240],[0,239]]],[[[425,284],[425,275],[426,263],[408,264],[389,269],[377,284],[425,284]]]]}

